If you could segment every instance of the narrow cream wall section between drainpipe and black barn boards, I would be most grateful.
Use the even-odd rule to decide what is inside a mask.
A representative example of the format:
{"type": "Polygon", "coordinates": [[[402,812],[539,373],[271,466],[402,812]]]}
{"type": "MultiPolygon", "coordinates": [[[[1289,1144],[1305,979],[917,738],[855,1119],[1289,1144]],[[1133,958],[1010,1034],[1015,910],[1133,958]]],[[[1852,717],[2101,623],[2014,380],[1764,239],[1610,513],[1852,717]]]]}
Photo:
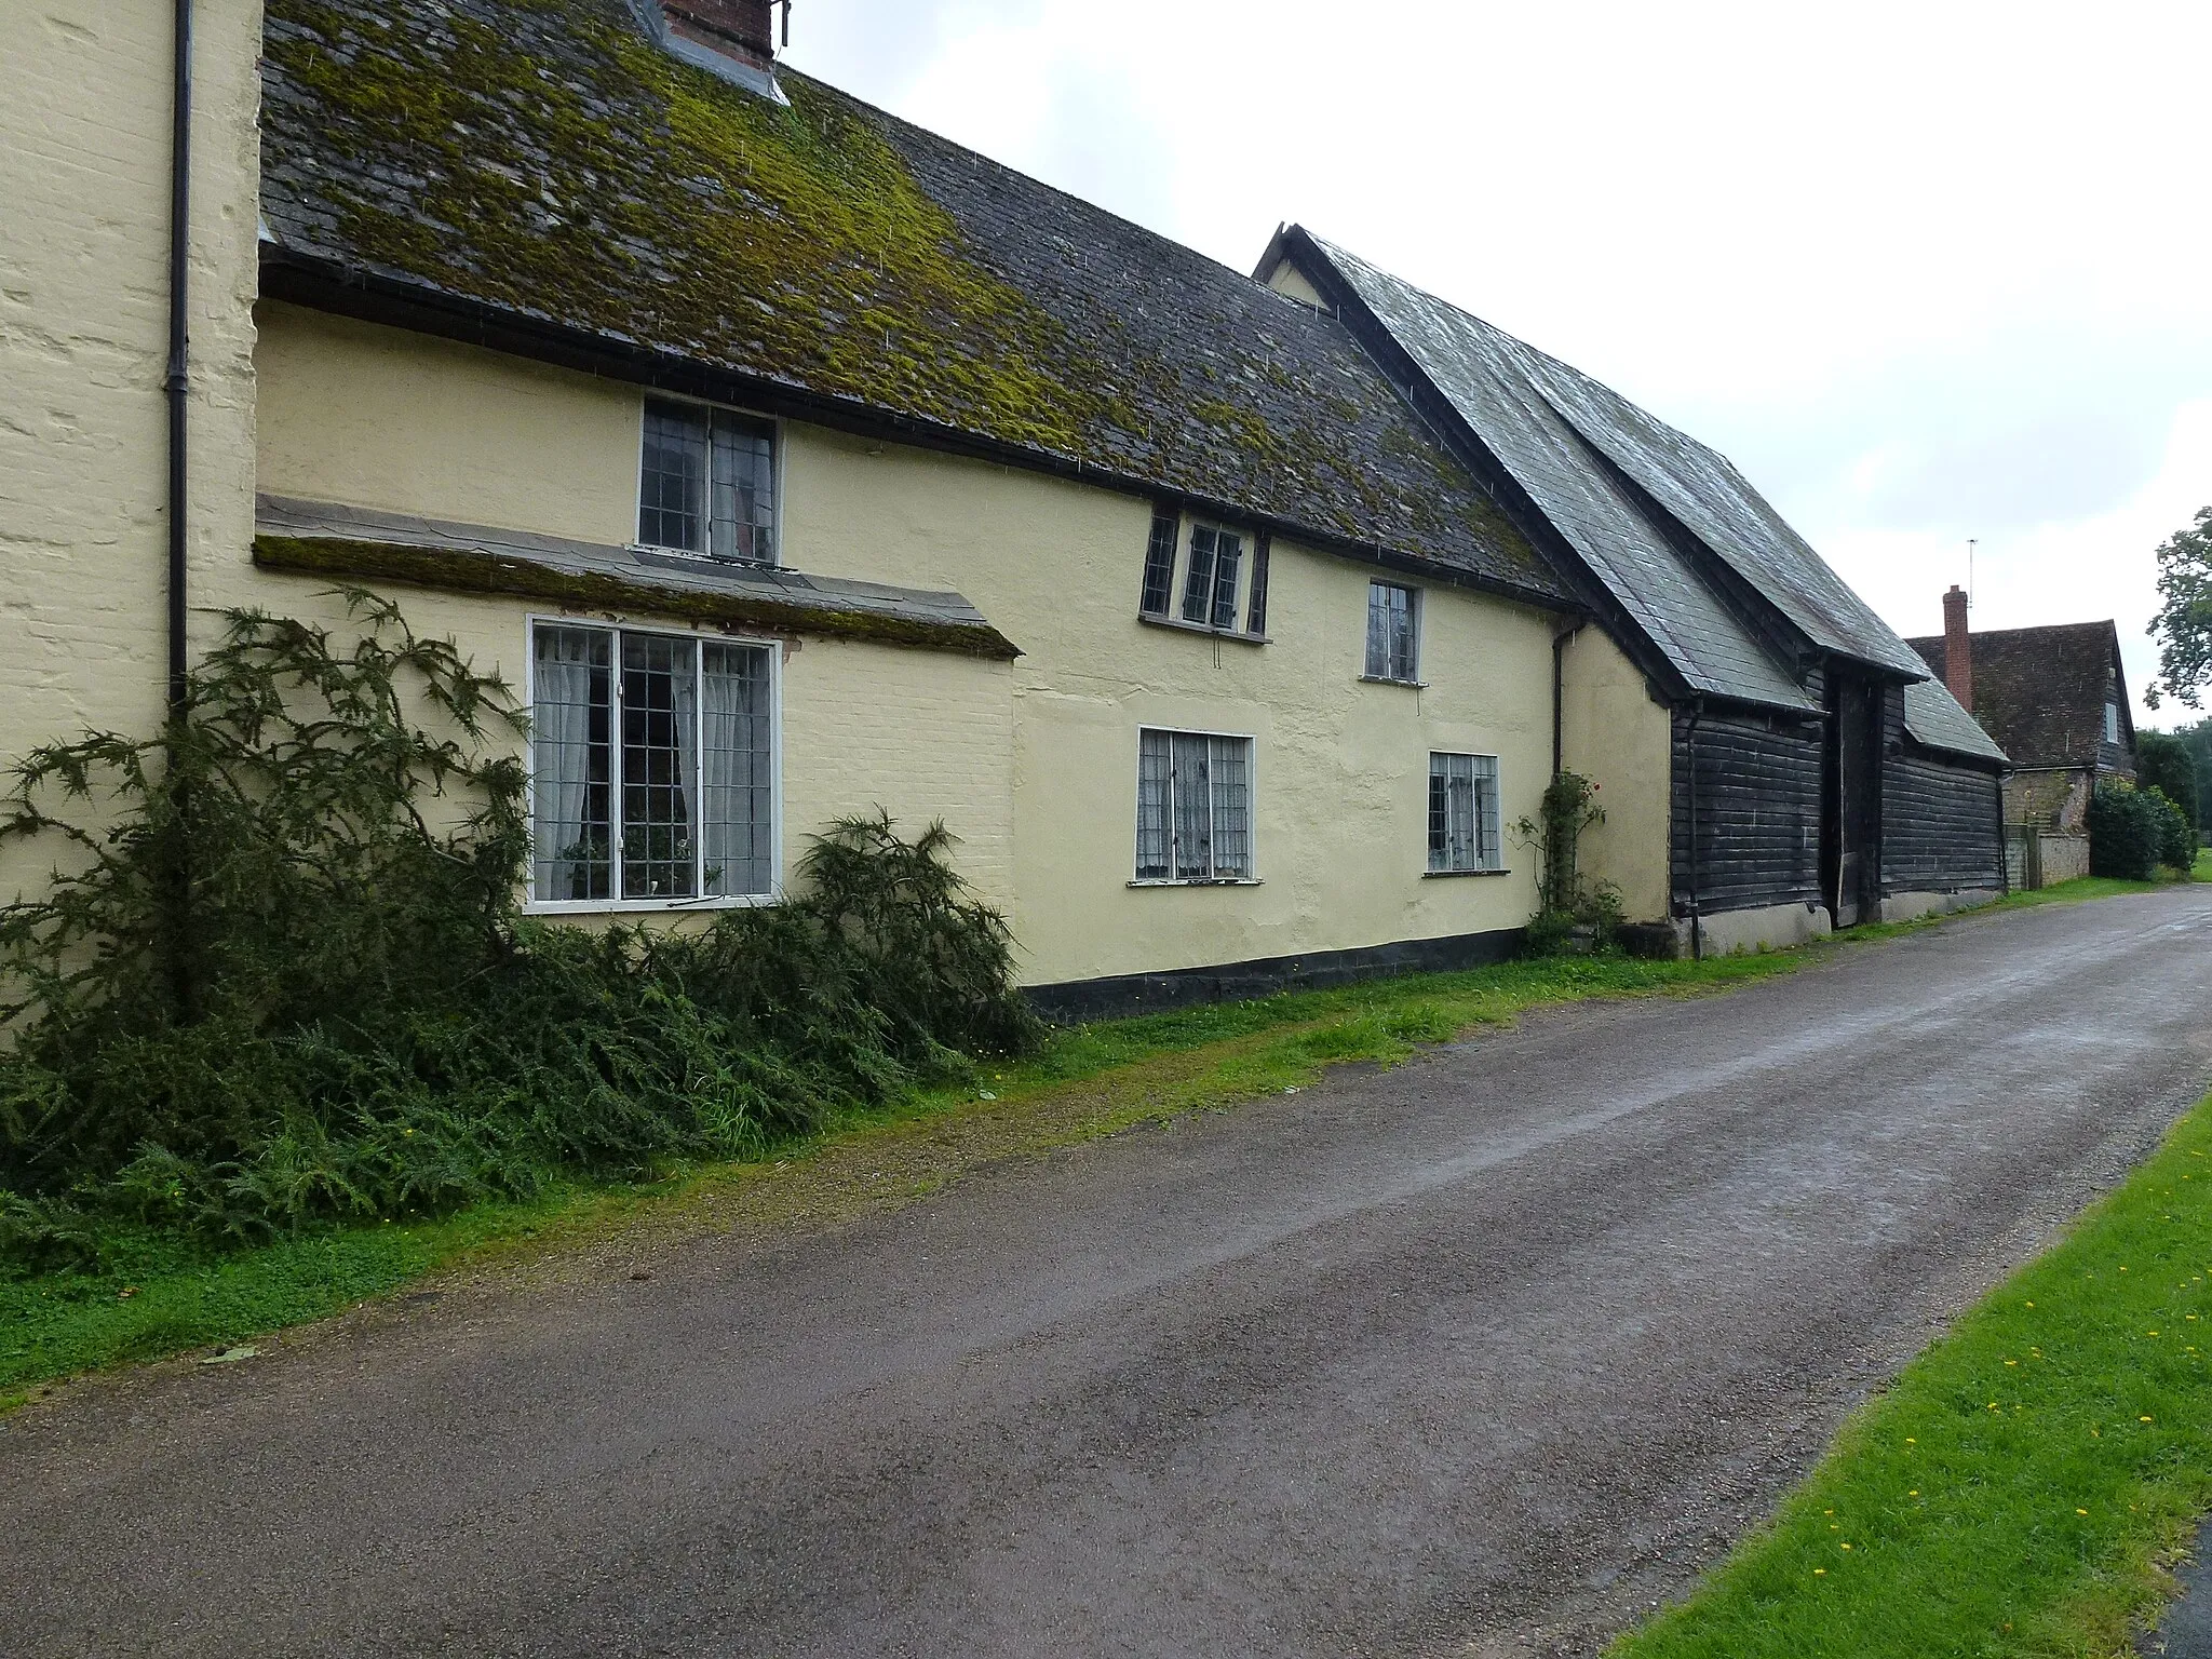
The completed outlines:
{"type": "Polygon", "coordinates": [[[1632,922],[1663,920],[1672,799],[1672,717],[1644,670],[1601,628],[1584,628],[1559,664],[1559,737],[1571,772],[1597,783],[1606,821],[1582,838],[1582,869],[1621,889],[1632,922]]]}

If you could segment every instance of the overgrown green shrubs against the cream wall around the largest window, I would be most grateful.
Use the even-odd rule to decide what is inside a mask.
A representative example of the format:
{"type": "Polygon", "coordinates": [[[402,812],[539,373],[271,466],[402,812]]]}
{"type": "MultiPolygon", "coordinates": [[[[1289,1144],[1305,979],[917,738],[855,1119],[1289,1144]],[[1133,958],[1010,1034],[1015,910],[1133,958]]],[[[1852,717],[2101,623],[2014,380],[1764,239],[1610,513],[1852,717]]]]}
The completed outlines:
{"type": "Polygon", "coordinates": [[[349,597],[356,637],[234,615],[161,737],[18,768],[0,838],[80,869],[0,909],[0,1265],[745,1155],[1035,1042],[940,825],[841,823],[695,931],[526,920],[509,690],[349,597]]]}

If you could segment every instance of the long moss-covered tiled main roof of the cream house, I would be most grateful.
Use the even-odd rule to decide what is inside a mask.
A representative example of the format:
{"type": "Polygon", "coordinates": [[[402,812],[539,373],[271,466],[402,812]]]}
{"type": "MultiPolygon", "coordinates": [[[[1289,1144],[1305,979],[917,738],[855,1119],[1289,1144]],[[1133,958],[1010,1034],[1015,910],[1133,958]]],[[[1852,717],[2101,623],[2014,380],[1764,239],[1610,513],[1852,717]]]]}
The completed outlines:
{"type": "Polygon", "coordinates": [[[265,259],[1571,604],[1334,319],[783,86],[626,0],[268,0],[265,259]]]}

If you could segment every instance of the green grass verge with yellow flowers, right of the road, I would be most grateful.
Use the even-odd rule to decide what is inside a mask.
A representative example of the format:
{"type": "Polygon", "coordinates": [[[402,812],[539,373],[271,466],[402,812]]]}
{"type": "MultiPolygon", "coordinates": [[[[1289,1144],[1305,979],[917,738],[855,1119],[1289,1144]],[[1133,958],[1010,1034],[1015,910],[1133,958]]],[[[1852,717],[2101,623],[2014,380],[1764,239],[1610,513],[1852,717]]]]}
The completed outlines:
{"type": "Polygon", "coordinates": [[[2132,1652],[2212,1509],[2212,1099],[1610,1659],[2132,1652]]]}

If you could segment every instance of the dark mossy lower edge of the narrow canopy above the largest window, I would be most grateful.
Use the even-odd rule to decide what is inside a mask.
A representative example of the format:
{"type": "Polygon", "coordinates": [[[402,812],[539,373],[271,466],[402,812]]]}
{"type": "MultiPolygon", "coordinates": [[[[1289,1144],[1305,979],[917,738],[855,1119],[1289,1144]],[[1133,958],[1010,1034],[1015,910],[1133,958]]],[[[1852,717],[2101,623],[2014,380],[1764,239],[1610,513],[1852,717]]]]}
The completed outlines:
{"type": "Polygon", "coordinates": [[[254,535],[254,564],[263,571],[292,575],[369,577],[445,593],[542,599],[568,611],[646,613],[719,628],[863,639],[876,646],[951,650],[995,661],[1013,661],[1022,655],[1006,635],[989,624],[787,604],[750,593],[701,593],[599,571],[555,571],[533,560],[465,546],[358,542],[343,535],[254,535]]]}

